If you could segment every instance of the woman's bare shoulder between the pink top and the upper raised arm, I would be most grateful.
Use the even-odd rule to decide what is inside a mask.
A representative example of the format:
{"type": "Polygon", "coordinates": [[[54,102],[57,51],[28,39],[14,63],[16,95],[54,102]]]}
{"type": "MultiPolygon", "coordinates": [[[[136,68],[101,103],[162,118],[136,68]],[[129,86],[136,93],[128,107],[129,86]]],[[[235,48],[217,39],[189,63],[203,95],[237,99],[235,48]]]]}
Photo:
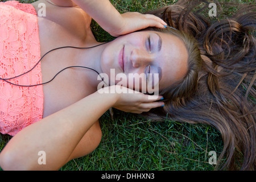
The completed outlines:
{"type": "Polygon", "coordinates": [[[70,44],[71,40],[73,44],[84,41],[90,31],[92,19],[80,7],[61,7],[42,0],[32,5],[38,16],[42,53],[58,45],[60,47],[70,44]],[[42,7],[40,3],[44,3],[44,6],[42,7]]]}

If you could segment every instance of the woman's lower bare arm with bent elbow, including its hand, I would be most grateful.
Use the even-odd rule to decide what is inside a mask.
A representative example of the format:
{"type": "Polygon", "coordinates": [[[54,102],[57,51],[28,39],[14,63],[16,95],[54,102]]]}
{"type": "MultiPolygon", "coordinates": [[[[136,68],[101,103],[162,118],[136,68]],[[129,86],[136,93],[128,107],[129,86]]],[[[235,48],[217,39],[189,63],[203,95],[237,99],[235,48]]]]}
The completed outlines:
{"type": "Polygon", "coordinates": [[[163,102],[155,102],[160,98],[162,96],[149,100],[146,94],[139,92],[95,92],[19,131],[0,153],[0,166],[5,170],[57,170],[68,161],[86,131],[110,107],[142,113],[163,105],[163,102]],[[46,165],[38,164],[39,151],[46,152],[46,165]]]}

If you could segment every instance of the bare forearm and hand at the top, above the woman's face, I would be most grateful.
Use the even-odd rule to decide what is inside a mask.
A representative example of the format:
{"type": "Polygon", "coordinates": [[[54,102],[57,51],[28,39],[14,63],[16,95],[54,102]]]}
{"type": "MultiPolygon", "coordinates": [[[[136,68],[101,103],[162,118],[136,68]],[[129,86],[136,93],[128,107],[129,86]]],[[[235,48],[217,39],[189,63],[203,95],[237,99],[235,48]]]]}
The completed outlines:
{"type": "Polygon", "coordinates": [[[113,36],[129,34],[147,27],[164,28],[167,25],[162,19],[150,14],[138,12],[120,14],[109,0],[51,0],[51,2],[57,6],[78,5],[113,36]]]}

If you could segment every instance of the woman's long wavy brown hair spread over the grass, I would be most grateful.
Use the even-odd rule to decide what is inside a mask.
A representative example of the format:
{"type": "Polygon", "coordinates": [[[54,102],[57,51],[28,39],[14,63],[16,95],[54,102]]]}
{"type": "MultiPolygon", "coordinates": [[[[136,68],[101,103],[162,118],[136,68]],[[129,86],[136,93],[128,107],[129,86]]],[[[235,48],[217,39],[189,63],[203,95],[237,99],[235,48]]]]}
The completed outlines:
{"type": "Polygon", "coordinates": [[[220,131],[224,142],[216,169],[256,169],[256,13],[244,13],[255,10],[255,6],[241,8],[236,15],[215,21],[200,13],[205,7],[208,7],[205,1],[182,0],[147,12],[193,36],[203,61],[200,63],[198,57],[192,57],[197,59],[196,67],[201,65],[200,70],[195,67],[193,78],[187,75],[179,82],[182,86],[177,84],[162,90],[159,94],[165,98],[164,107],[144,115],[213,126],[220,131]],[[193,11],[195,7],[197,11],[193,11]]]}

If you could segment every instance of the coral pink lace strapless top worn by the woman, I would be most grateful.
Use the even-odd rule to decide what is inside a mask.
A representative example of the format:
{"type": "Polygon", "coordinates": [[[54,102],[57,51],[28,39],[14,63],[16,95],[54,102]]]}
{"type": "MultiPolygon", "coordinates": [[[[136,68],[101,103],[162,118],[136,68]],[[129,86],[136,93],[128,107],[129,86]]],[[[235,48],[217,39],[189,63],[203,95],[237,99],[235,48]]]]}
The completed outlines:
{"type": "MultiPolygon", "coordinates": [[[[38,20],[34,7],[0,2],[0,77],[30,70],[40,59],[38,20]]],[[[42,83],[40,63],[31,72],[8,80],[19,85],[42,83]]],[[[42,119],[43,86],[22,87],[0,80],[0,132],[15,135],[42,119]]]]}

